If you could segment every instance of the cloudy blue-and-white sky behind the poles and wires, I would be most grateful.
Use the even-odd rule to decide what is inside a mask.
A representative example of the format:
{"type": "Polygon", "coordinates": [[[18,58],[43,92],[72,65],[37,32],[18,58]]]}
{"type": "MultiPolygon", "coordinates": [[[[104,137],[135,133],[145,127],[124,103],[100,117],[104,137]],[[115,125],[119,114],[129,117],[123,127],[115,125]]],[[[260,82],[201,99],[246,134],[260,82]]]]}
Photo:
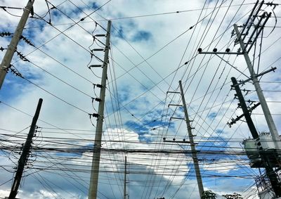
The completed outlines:
{"type": "MultiPolygon", "coordinates": [[[[259,169],[249,167],[242,141],[251,138],[231,89],[249,78],[237,54],[233,25],[246,23],[254,0],[34,1],[0,91],[0,198],[8,196],[22,143],[43,99],[32,152],[18,198],[88,198],[107,22],[112,21],[105,91],[98,198],[199,198],[179,81],[183,84],[204,190],[257,198],[259,169]],[[13,70],[13,72],[12,72],[13,70]],[[21,76],[21,77],[20,77],[21,76]],[[164,141],[164,139],[166,139],[164,141]],[[174,139],[174,141],[173,141],[174,139]]],[[[281,4],[275,0],[275,4],[281,4]]],[[[15,31],[27,1],[0,0],[0,33],[15,31]],[[4,6],[4,8],[2,8],[4,6]],[[5,7],[6,6],[6,7],[5,7]]],[[[280,9],[249,57],[277,131],[280,115],[280,9]]],[[[254,23],[256,24],[257,21],[254,23]]],[[[11,35],[0,37],[1,60],[11,35]]],[[[244,41],[249,39],[249,35],[244,41]]],[[[249,107],[259,102],[251,82],[241,85],[249,107]]],[[[268,132],[261,105],[251,113],[268,132]]],[[[263,169],[261,169],[261,173],[263,169]]]]}

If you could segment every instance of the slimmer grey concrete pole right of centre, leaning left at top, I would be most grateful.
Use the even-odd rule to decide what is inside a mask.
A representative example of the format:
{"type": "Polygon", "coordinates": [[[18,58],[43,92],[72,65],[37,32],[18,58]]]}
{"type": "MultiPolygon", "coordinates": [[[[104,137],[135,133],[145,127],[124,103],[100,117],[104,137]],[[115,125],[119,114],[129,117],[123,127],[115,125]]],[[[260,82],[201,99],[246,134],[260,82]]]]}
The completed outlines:
{"type": "Polygon", "coordinates": [[[179,84],[180,84],[180,89],[181,89],[181,100],[183,101],[183,110],[184,110],[184,113],[185,113],[185,122],[186,122],[186,125],[188,127],[188,136],[189,136],[189,140],[190,140],[190,147],[191,147],[192,159],[193,159],[193,162],[194,162],[197,184],[198,184],[198,188],[199,188],[200,198],[202,198],[204,188],[203,188],[203,184],[202,184],[202,177],[201,177],[201,174],[200,174],[200,168],[199,168],[199,164],[198,164],[197,153],[196,153],[196,150],[195,150],[195,143],[193,141],[193,135],[192,135],[192,132],[191,132],[192,127],[190,126],[190,120],[189,120],[189,117],[188,117],[188,109],[186,108],[185,96],[183,94],[183,86],[181,84],[181,81],[179,81],[179,84]]]}

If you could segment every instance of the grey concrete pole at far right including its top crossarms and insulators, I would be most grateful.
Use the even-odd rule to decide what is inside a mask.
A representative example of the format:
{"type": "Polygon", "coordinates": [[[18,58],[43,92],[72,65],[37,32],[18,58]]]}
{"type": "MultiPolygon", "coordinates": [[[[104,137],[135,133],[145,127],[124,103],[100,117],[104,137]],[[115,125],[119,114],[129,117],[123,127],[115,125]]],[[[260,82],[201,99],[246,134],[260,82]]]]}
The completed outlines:
{"type": "MultiPolygon", "coordinates": [[[[217,49],[214,49],[213,52],[202,52],[202,49],[198,49],[199,53],[202,54],[216,54],[217,56],[219,54],[226,54],[226,55],[243,55],[244,59],[247,64],[247,68],[250,73],[250,78],[247,79],[248,82],[251,80],[254,84],[254,87],[256,89],[256,94],[259,97],[259,101],[261,103],[261,108],[263,110],[263,115],[266,118],[266,123],[268,124],[268,129],[270,131],[270,134],[273,138],[275,148],[278,150],[281,149],[281,146],[279,144],[280,138],[279,134],[277,132],[277,128],[275,127],[275,123],[273,121],[273,117],[270,113],[270,110],[268,108],[268,105],[266,103],[266,98],[263,96],[263,91],[261,90],[261,86],[259,84],[258,77],[260,75],[256,74],[254,71],[254,66],[251,64],[251,60],[249,58],[249,51],[251,51],[251,48],[256,44],[256,39],[259,38],[259,35],[261,34],[263,28],[265,27],[266,23],[268,22],[268,19],[271,16],[271,13],[267,13],[266,11],[263,12],[262,15],[259,14],[262,10],[262,6],[264,4],[264,1],[256,1],[256,4],[254,5],[254,8],[252,9],[249,18],[247,19],[247,22],[243,24],[242,30],[238,30],[238,26],[236,24],[233,25],[234,27],[234,34],[236,34],[237,39],[235,40],[235,44],[240,44],[240,51],[237,52],[230,52],[230,49],[226,49],[225,52],[218,52],[217,49]],[[256,19],[258,21],[255,23],[256,19]],[[251,30],[253,29],[253,30],[251,30]],[[246,39],[246,37],[248,37],[246,39]]],[[[278,4],[268,3],[267,6],[277,6],[278,4]]],[[[275,8],[275,7],[274,7],[275,8]]],[[[274,9],[273,8],[273,9],[274,9]]],[[[262,38],[261,38],[262,39],[262,38]]]]}

